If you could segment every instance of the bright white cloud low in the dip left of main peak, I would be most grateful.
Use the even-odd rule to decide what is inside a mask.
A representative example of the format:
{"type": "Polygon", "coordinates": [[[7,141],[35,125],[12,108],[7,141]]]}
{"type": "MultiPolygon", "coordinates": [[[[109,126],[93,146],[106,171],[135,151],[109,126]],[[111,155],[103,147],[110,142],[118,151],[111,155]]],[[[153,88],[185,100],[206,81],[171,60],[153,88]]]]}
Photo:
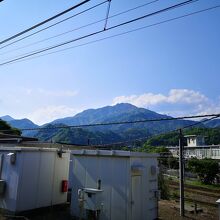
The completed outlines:
{"type": "Polygon", "coordinates": [[[34,112],[30,113],[27,118],[32,120],[38,125],[45,124],[47,122],[51,122],[57,118],[64,118],[69,116],[74,116],[80,112],[79,109],[70,108],[68,106],[60,105],[60,106],[45,106],[43,108],[39,108],[34,112]]]}

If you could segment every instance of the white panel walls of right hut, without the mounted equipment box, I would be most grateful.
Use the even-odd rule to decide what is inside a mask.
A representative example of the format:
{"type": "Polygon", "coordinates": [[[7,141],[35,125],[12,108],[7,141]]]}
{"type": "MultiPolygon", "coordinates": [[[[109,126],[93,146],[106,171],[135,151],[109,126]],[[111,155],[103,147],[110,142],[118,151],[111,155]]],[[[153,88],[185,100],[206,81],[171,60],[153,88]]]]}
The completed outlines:
{"type": "Polygon", "coordinates": [[[156,158],[71,155],[71,214],[86,217],[80,210],[77,192],[82,188],[97,189],[101,180],[103,208],[101,220],[142,220],[157,217],[157,173],[151,175],[156,158]],[[137,165],[140,172],[131,172],[137,165]],[[132,185],[133,183],[133,185],[132,185]]]}

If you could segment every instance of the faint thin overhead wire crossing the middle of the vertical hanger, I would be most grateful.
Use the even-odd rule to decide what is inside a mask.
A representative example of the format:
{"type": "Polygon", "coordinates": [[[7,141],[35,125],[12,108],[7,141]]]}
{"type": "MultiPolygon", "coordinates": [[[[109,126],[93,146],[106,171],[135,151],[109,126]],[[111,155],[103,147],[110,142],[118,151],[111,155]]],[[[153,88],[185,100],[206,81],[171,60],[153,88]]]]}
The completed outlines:
{"type": "MultiPolygon", "coordinates": [[[[134,8],[130,8],[130,9],[128,9],[128,10],[119,12],[119,13],[117,13],[117,14],[114,14],[114,15],[112,15],[112,16],[109,16],[108,19],[112,19],[112,18],[117,17],[117,16],[120,16],[120,15],[122,15],[122,14],[126,14],[126,13],[128,13],[128,12],[130,12],[130,11],[137,10],[137,9],[139,9],[139,8],[145,7],[145,6],[147,6],[147,5],[150,5],[150,4],[152,4],[152,3],[155,3],[155,2],[157,2],[157,1],[159,1],[159,0],[154,0],[154,1],[151,1],[151,2],[147,2],[147,3],[145,3],[145,4],[136,6],[136,7],[134,7],[134,8]]],[[[106,1],[105,1],[105,2],[106,2],[106,1]]],[[[73,16],[74,16],[74,15],[73,15],[73,16]]],[[[68,17],[68,18],[72,18],[73,16],[68,17]]],[[[97,21],[88,23],[88,24],[86,24],[86,25],[80,26],[80,27],[78,27],[78,28],[74,28],[74,29],[71,29],[71,30],[69,30],[69,31],[65,31],[65,32],[63,32],[63,33],[57,34],[57,35],[54,35],[54,36],[51,36],[51,37],[48,37],[48,38],[45,38],[45,39],[42,39],[42,40],[39,40],[39,41],[35,41],[35,42],[30,43],[30,44],[27,44],[27,45],[25,45],[25,46],[22,46],[22,47],[13,49],[13,50],[6,51],[6,52],[4,52],[4,53],[1,53],[0,55],[5,55],[5,54],[10,53],[10,52],[14,52],[14,51],[17,51],[17,50],[20,50],[20,49],[24,49],[24,48],[27,48],[27,47],[30,47],[30,46],[33,46],[33,45],[36,45],[36,44],[39,44],[39,43],[48,41],[48,40],[50,40],[50,39],[53,39],[53,38],[56,38],[56,37],[60,37],[60,36],[63,36],[63,35],[69,34],[69,33],[72,33],[72,32],[74,32],[74,31],[77,31],[77,30],[80,30],[80,29],[83,29],[83,28],[86,28],[86,27],[89,27],[89,26],[98,24],[98,23],[100,23],[100,22],[102,22],[102,21],[105,21],[105,20],[106,20],[106,18],[103,18],[103,19],[100,19],[100,20],[97,20],[97,21]]],[[[37,33],[37,32],[35,32],[35,33],[37,33]]],[[[28,35],[28,36],[30,36],[30,35],[28,35]]],[[[10,44],[8,44],[8,46],[10,46],[10,44]]],[[[4,48],[4,47],[0,47],[0,49],[2,49],[2,48],[4,48]]]]}

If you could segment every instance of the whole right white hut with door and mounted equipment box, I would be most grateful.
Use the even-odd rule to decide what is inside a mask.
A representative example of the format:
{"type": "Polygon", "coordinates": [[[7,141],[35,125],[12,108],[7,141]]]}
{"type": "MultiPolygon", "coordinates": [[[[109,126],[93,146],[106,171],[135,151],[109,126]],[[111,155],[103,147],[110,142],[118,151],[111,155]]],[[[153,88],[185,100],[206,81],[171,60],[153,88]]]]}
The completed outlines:
{"type": "Polygon", "coordinates": [[[99,220],[158,217],[157,155],[129,151],[71,152],[71,215],[99,220]]]}

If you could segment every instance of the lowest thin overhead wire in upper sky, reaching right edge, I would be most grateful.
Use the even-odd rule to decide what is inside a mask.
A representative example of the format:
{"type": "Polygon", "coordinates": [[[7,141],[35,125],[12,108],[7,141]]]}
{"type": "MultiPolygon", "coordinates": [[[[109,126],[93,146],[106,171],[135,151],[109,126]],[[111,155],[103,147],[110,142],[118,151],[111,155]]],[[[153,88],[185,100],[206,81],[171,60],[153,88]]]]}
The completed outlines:
{"type": "Polygon", "coordinates": [[[13,63],[22,62],[22,61],[26,61],[26,60],[31,60],[31,59],[35,59],[35,58],[38,58],[38,57],[47,56],[47,55],[50,55],[50,54],[59,53],[59,52],[62,52],[62,51],[73,49],[73,48],[77,48],[77,47],[97,43],[97,42],[104,41],[104,40],[107,40],[107,39],[110,39],[110,38],[119,37],[119,36],[122,36],[122,35],[126,35],[126,34],[129,34],[129,33],[136,32],[136,31],[140,31],[140,30],[143,30],[143,29],[146,29],[146,28],[154,27],[154,26],[157,26],[157,25],[161,25],[161,24],[165,24],[165,23],[168,23],[168,22],[171,22],[171,21],[175,21],[175,20],[178,20],[178,19],[189,17],[189,16],[192,16],[192,15],[195,15],[195,14],[199,14],[199,13],[202,13],[202,12],[213,10],[213,9],[216,9],[216,8],[219,8],[219,7],[220,7],[220,5],[216,5],[216,6],[213,6],[213,7],[209,7],[209,8],[206,8],[206,9],[202,9],[202,10],[199,10],[199,11],[188,13],[188,14],[185,14],[185,15],[182,15],[182,16],[178,16],[178,17],[174,17],[174,18],[171,18],[171,19],[156,22],[156,23],[153,23],[153,24],[150,24],[150,25],[146,25],[146,26],[143,26],[143,27],[140,27],[140,28],[125,31],[125,32],[122,32],[122,33],[119,33],[119,34],[111,35],[111,36],[100,38],[100,39],[93,40],[93,41],[89,41],[89,42],[79,44],[79,45],[75,45],[75,46],[72,46],[72,47],[67,47],[67,48],[64,48],[64,49],[61,49],[61,50],[56,50],[56,51],[53,51],[53,52],[50,52],[50,53],[45,53],[45,54],[35,56],[35,57],[31,57],[31,58],[28,58],[28,59],[25,59],[25,60],[15,61],[13,63]]]}

